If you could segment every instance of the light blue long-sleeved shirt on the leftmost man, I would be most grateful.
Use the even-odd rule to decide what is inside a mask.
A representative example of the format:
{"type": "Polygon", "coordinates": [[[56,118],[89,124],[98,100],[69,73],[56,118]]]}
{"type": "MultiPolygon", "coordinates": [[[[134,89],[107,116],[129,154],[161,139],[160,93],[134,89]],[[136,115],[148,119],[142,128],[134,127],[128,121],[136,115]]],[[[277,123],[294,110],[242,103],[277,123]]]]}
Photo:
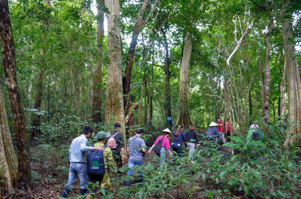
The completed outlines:
{"type": "Polygon", "coordinates": [[[87,146],[88,139],[85,135],[80,135],[73,139],[69,147],[70,162],[85,162],[85,151],[92,150],[92,147],[87,146]]]}

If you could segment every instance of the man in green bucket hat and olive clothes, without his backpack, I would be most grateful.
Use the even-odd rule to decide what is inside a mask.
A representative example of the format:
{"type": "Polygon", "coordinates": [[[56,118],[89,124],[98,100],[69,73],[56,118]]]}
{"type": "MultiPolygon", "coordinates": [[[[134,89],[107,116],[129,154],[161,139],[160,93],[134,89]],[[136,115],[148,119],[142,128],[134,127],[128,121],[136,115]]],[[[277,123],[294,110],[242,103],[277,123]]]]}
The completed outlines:
{"type": "MultiPolygon", "coordinates": [[[[108,166],[110,166],[110,168],[116,169],[116,163],[113,160],[112,150],[110,149],[110,147],[107,147],[105,145],[107,138],[109,137],[110,137],[110,133],[104,131],[98,132],[94,137],[95,139],[97,139],[97,142],[94,144],[95,147],[99,147],[99,146],[105,147],[103,151],[105,173],[103,175],[95,175],[95,174],[88,175],[87,182],[88,182],[89,192],[95,193],[96,188],[93,189],[93,184],[95,184],[96,182],[99,182],[99,185],[101,187],[104,187],[105,189],[111,189],[112,187],[107,168],[108,166]]],[[[92,195],[88,195],[87,198],[92,198],[92,195]]]]}

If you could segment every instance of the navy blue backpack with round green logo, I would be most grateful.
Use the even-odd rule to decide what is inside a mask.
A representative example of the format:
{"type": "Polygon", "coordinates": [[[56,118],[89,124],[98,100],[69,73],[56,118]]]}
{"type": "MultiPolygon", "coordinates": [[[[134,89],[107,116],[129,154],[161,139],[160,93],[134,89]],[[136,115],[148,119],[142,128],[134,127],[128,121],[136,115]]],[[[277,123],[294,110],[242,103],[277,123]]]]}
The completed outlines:
{"type": "MultiPolygon", "coordinates": [[[[91,145],[94,147],[94,144],[91,145]]],[[[103,146],[104,148],[107,145],[103,146]]],[[[87,174],[88,175],[104,175],[104,154],[102,150],[93,149],[87,153],[87,174]]]]}

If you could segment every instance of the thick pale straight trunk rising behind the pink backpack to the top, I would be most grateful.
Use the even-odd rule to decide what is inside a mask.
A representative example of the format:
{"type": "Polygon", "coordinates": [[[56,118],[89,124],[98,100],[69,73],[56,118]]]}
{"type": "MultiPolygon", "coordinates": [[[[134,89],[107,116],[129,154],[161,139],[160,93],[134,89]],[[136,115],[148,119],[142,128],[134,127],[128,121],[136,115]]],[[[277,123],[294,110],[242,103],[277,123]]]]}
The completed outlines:
{"type": "Polygon", "coordinates": [[[107,96],[105,123],[120,123],[120,132],[126,136],[122,89],[121,45],[119,29],[119,0],[105,0],[108,24],[107,96]],[[112,118],[114,116],[114,118],[112,118]],[[112,121],[113,120],[113,121],[112,121]]]}

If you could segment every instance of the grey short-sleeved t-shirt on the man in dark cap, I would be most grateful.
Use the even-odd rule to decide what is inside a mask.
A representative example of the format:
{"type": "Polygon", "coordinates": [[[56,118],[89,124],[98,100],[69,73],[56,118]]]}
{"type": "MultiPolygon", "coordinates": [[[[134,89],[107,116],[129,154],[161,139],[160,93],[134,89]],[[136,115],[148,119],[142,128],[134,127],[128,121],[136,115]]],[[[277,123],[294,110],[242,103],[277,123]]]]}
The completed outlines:
{"type": "Polygon", "coordinates": [[[146,148],[144,139],[140,138],[140,136],[135,135],[129,138],[128,144],[126,145],[130,148],[129,160],[132,161],[143,161],[142,153],[139,151],[140,148],[146,148]]]}

